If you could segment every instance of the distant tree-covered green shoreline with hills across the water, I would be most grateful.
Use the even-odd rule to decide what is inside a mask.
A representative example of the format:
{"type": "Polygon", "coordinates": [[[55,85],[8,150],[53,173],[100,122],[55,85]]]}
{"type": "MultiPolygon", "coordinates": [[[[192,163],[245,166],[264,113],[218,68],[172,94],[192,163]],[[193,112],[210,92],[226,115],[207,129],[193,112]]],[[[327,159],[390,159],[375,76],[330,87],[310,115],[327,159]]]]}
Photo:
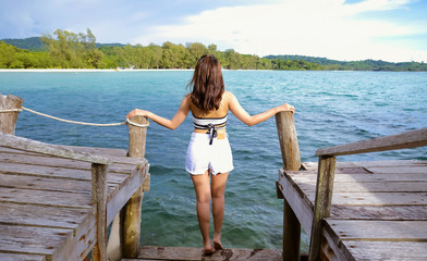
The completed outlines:
{"type": "Polygon", "coordinates": [[[217,50],[199,42],[175,45],[98,44],[86,34],[57,29],[52,35],[0,40],[0,69],[192,69],[197,59],[212,53],[228,70],[288,71],[388,71],[426,72],[422,62],[337,61],[305,55],[241,54],[233,49],[217,50]]]}

